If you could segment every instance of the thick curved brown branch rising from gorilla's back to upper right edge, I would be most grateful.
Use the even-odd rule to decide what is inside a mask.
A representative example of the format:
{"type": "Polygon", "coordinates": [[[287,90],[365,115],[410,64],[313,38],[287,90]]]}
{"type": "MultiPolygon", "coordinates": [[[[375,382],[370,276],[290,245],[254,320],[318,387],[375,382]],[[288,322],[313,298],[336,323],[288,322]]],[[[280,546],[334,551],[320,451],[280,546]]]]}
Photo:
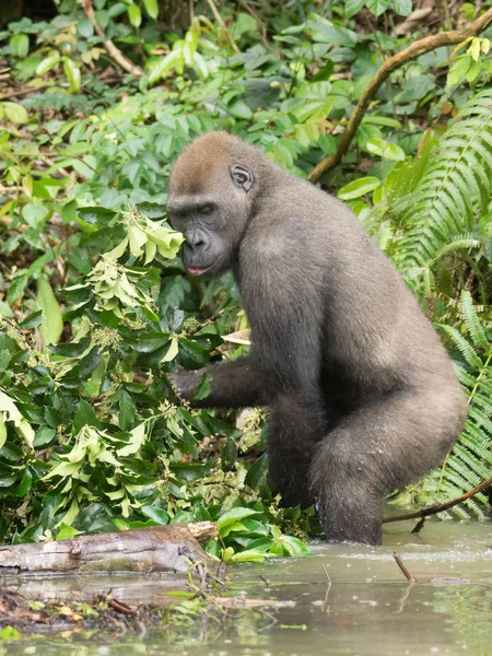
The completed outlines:
{"type": "Polygon", "coordinates": [[[418,42],[411,44],[401,52],[397,52],[389,59],[387,59],[377,73],[372,78],[368,83],[366,90],[362,94],[359,103],[356,104],[355,109],[353,110],[352,116],[350,117],[349,125],[347,126],[345,131],[343,132],[340,143],[338,144],[337,152],[328,157],[325,157],[319,162],[317,166],[311,172],[308,178],[312,181],[318,180],[324,173],[330,171],[343,159],[343,155],[349,150],[349,147],[352,142],[352,139],[355,136],[355,132],[359,129],[359,126],[364,118],[364,115],[370,106],[372,99],[376,95],[379,86],[386,82],[389,75],[396,69],[400,68],[408,61],[424,55],[425,52],[430,52],[431,50],[435,50],[436,48],[442,48],[443,46],[454,46],[456,44],[460,44],[467,38],[479,35],[489,23],[492,22],[492,9],[489,9],[479,19],[470,23],[468,27],[464,30],[452,30],[449,32],[442,32],[441,34],[433,34],[432,36],[426,36],[418,42]]]}

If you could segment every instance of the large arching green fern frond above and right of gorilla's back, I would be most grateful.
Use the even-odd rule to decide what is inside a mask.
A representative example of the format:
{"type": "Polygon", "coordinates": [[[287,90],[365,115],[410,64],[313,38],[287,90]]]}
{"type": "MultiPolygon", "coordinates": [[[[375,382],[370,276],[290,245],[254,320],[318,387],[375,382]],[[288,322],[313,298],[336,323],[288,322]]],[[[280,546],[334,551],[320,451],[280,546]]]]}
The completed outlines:
{"type": "Polygon", "coordinates": [[[388,199],[397,224],[393,258],[408,282],[425,292],[453,254],[475,250],[490,261],[492,90],[473,96],[430,149],[401,167],[388,199]]]}

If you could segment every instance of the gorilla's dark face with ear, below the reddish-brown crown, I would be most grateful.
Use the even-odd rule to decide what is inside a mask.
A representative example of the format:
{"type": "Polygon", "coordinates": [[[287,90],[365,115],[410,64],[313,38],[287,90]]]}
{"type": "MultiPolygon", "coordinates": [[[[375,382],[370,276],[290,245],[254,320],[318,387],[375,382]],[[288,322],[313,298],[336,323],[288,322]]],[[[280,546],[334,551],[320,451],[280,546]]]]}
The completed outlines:
{"type": "Polygon", "coordinates": [[[222,171],[200,190],[183,192],[174,181],[167,211],[181,232],[183,263],[192,277],[213,277],[231,269],[250,213],[251,174],[239,165],[222,171]]]}

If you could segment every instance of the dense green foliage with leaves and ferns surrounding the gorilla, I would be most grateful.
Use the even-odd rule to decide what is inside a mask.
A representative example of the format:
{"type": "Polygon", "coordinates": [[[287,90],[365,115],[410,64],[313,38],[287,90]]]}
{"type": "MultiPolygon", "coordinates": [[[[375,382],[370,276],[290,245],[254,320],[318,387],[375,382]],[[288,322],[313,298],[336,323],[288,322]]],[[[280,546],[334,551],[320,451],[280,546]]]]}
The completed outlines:
{"type": "MultiPolygon", "coordinates": [[[[172,163],[226,129],[307,176],[394,52],[492,2],[28,4],[1,10],[0,539],[213,519],[226,560],[304,552],[314,511],[271,497],[263,411],[191,412],[169,385],[247,348],[232,277],[189,280],[176,257],[172,163]]],[[[492,475],[491,36],[400,66],[319,180],[400,269],[469,396],[443,468],[399,502],[492,475]]]]}

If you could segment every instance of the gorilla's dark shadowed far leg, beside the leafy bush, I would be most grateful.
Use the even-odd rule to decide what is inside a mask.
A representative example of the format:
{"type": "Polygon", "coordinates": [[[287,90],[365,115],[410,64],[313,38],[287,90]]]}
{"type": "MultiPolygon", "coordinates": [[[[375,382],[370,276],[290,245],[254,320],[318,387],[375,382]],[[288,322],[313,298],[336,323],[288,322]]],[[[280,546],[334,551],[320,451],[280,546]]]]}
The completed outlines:
{"type": "Polygon", "coordinates": [[[282,505],[308,506],[309,468],[316,444],[326,435],[323,408],[297,393],[283,394],[270,409],[268,420],[268,484],[281,494],[282,505]]]}

